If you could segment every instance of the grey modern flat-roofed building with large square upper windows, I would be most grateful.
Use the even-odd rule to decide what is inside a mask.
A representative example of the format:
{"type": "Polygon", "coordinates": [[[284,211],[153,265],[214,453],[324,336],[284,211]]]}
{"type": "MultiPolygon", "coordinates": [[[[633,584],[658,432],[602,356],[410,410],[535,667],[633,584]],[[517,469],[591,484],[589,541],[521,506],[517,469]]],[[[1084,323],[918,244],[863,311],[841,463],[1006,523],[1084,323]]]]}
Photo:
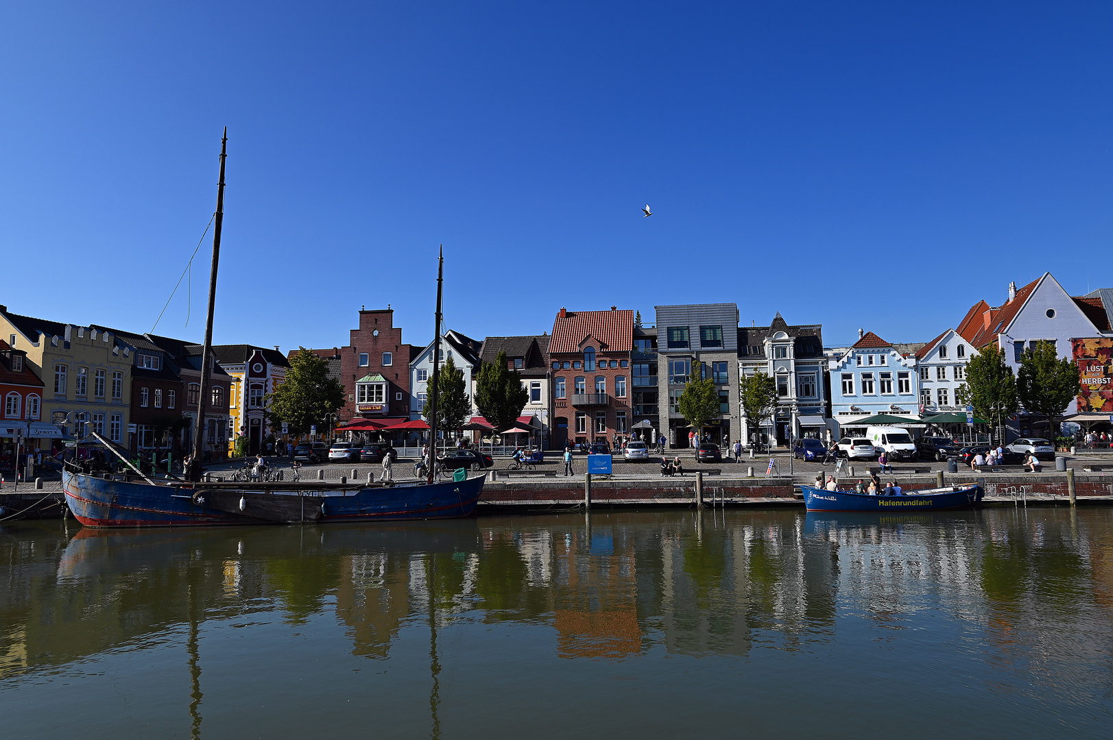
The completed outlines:
{"type": "Polygon", "coordinates": [[[705,432],[727,445],[740,438],[738,406],[738,304],[656,306],[658,401],[661,433],[670,447],[689,447],[688,422],[679,399],[695,363],[719,391],[718,418],[705,432]]]}

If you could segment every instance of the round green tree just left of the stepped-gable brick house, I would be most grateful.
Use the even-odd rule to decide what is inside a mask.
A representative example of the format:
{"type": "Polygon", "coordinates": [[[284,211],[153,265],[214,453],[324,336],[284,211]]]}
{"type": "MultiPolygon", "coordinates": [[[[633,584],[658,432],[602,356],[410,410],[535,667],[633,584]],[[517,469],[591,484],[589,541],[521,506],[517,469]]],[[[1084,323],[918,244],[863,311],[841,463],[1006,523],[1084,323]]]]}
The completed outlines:
{"type": "Polygon", "coordinates": [[[307,434],[314,424],[324,424],[344,405],[344,386],[328,377],[328,361],[305,347],[290,357],[286,379],[267,395],[269,417],[286,422],[289,433],[307,434]]]}

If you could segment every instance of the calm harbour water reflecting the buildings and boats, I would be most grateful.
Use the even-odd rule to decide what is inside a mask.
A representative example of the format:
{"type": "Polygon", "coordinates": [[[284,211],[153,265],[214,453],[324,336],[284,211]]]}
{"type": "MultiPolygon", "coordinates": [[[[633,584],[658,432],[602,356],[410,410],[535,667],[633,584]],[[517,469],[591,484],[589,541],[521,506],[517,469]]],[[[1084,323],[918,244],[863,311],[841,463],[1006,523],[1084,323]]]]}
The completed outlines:
{"type": "Polygon", "coordinates": [[[16,738],[1096,738],[1113,509],[0,530],[16,738]]]}

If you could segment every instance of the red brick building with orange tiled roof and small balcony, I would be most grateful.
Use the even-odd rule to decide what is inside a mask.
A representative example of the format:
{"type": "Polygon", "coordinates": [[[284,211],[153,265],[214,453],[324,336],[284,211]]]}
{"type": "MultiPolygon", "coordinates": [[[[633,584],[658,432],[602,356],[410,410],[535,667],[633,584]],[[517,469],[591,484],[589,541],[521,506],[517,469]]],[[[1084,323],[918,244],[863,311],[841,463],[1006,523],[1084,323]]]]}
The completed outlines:
{"type": "Polygon", "coordinates": [[[560,309],[549,342],[556,447],[629,438],[632,351],[632,310],[560,309]]]}

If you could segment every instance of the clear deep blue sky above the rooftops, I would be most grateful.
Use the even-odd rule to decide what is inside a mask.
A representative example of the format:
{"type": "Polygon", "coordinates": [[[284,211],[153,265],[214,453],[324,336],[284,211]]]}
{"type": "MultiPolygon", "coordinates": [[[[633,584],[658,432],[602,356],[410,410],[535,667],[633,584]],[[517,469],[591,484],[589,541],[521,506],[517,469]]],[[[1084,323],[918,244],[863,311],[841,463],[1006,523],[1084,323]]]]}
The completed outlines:
{"type": "MultiPolygon", "coordinates": [[[[0,7],[0,303],[151,328],[228,187],[215,339],[737,302],[927,341],[1110,269],[1109,3],[0,7]],[[656,211],[642,218],[639,209],[656,211]]],[[[159,333],[200,339],[210,238],[159,333]],[[188,298],[188,299],[187,299],[188,298]],[[187,312],[190,313],[186,326],[187,312]]]]}

